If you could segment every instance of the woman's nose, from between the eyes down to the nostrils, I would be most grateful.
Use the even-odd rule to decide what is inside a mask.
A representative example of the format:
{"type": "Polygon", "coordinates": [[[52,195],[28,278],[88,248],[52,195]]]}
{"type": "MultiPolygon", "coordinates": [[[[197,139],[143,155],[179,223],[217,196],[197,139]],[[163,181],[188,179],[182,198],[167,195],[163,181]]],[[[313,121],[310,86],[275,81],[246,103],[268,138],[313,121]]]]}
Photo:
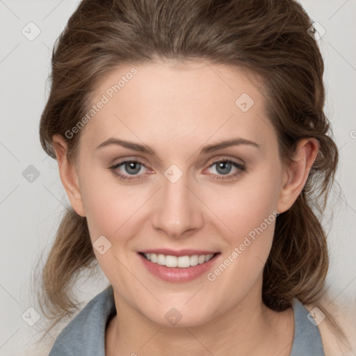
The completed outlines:
{"type": "Polygon", "coordinates": [[[188,183],[187,175],[175,183],[163,177],[163,186],[155,200],[152,225],[172,238],[190,235],[204,224],[202,202],[188,183]]]}

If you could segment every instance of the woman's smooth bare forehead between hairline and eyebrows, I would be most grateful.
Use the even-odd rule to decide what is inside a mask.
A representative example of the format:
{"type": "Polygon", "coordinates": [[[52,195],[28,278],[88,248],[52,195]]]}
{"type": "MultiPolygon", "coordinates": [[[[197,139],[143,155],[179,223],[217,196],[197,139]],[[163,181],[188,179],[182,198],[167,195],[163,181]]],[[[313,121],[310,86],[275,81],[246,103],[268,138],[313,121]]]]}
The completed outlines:
{"type": "Polygon", "coordinates": [[[92,146],[115,136],[172,149],[236,136],[264,145],[275,140],[264,100],[257,77],[232,66],[203,60],[120,65],[95,88],[95,115],[81,134],[92,146]]]}

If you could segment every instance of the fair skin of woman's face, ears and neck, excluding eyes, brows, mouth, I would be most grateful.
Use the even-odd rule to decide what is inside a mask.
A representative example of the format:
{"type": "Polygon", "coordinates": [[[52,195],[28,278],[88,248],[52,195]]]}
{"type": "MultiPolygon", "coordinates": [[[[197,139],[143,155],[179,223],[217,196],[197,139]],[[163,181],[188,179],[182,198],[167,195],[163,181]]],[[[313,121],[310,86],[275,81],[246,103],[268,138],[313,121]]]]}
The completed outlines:
{"type": "MultiPolygon", "coordinates": [[[[104,78],[92,104],[131,67],[122,65],[104,78]]],[[[135,67],[133,79],[77,133],[74,161],[67,160],[66,141],[54,136],[73,209],[86,216],[93,243],[103,235],[111,242],[105,254],[94,249],[119,315],[106,329],[106,355],[289,355],[293,310],[273,312],[261,300],[275,222],[213,282],[206,274],[164,282],[146,270],[137,252],[219,251],[214,270],[273,211],[292,206],[316,158],[317,141],[300,140],[293,162],[283,163],[259,86],[234,67],[168,60],[135,67]],[[243,93],[254,100],[245,113],[235,104],[243,93]],[[157,157],[120,145],[97,149],[108,138],[144,143],[157,157]],[[259,147],[200,154],[202,147],[229,138],[259,147]],[[124,159],[143,163],[143,179],[120,181],[113,174],[110,167],[124,159]],[[232,166],[222,175],[213,162],[224,159],[245,170],[232,166]],[[174,184],[164,175],[172,164],[183,173],[174,184]],[[232,178],[214,179],[226,176],[232,178]],[[172,307],[182,316],[175,326],[165,319],[172,307]]],[[[124,165],[115,171],[130,177],[124,165]]]]}

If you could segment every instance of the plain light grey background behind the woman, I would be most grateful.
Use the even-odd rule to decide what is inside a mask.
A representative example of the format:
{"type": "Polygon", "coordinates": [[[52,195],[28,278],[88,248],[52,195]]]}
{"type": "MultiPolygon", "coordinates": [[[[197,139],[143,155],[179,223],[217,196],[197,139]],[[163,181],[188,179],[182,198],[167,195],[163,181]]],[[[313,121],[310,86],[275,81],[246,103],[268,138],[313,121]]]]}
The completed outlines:
{"type": "MultiPolygon", "coordinates": [[[[355,304],[356,1],[301,3],[326,31],[318,40],[325,58],[326,113],[340,153],[337,181],[341,191],[335,187],[330,201],[333,223],[330,214],[325,218],[331,254],[327,282],[335,300],[355,304]]],[[[0,355],[31,355],[26,347],[37,331],[24,321],[26,315],[33,314],[27,311],[33,306],[30,275],[40,253],[44,251],[45,256],[48,252],[67,202],[56,161],[40,147],[38,124],[48,97],[51,49],[77,4],[74,0],[0,0],[0,355]],[[31,38],[39,31],[36,27],[40,34],[33,40],[22,33],[24,29],[31,38]],[[29,165],[40,174],[37,178],[34,175],[32,182],[27,180],[33,173],[29,165]]],[[[83,284],[79,290],[83,303],[102,291],[106,283],[102,275],[96,282],[83,284]]],[[[35,326],[41,323],[42,319],[35,326]]]]}

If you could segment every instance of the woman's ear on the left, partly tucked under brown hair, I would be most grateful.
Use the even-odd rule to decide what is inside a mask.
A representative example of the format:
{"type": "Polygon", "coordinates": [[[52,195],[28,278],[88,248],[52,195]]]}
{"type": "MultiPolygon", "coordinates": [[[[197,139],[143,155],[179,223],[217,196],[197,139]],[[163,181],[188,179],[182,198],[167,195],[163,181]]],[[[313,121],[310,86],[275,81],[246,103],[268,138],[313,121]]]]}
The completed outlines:
{"type": "Polygon", "coordinates": [[[79,178],[74,163],[67,159],[67,142],[60,135],[53,136],[54,149],[58,162],[60,180],[65,188],[67,196],[74,211],[80,216],[86,216],[81,199],[79,178]]]}

